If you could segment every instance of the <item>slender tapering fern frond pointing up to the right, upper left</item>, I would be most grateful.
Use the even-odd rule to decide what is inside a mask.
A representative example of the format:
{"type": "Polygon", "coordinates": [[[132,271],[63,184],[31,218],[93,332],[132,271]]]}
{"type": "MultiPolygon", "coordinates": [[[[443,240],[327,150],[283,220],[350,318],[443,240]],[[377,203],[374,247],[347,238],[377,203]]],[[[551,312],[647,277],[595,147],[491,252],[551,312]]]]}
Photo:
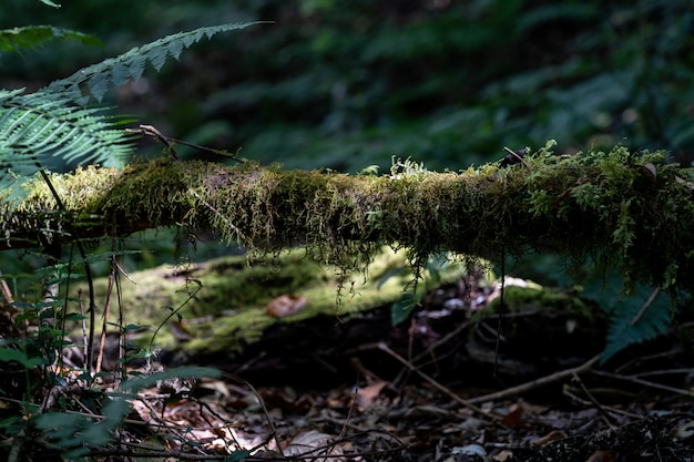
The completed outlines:
{"type": "Polygon", "coordinates": [[[145,45],[135,47],[116,58],[110,58],[81,69],[67,79],[53,81],[47,90],[65,94],[79,104],[85,104],[90,94],[96,101],[101,101],[110,85],[120,86],[130,80],[140,79],[147,62],[159,71],[169,58],[177,60],[183,49],[205,37],[211,39],[216,33],[244,29],[257,23],[261,22],[211,25],[188,32],[174,33],[145,45]],[[88,90],[86,95],[82,93],[84,86],[88,90]]]}

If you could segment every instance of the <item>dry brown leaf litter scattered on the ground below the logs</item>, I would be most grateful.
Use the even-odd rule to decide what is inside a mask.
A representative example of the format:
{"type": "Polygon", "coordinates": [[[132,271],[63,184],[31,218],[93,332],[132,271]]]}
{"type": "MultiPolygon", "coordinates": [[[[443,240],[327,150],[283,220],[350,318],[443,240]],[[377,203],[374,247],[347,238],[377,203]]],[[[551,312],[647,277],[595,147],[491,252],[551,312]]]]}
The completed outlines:
{"type": "MultiPolygon", "coordinates": [[[[484,304],[479,294],[474,300],[484,304]]],[[[490,356],[491,343],[480,339],[493,337],[483,325],[496,318],[469,322],[460,330],[465,322],[440,314],[457,305],[447,298],[437,301],[437,309],[430,307],[431,318],[426,310],[416,314],[404,328],[406,342],[384,339],[381,330],[379,341],[353,348],[347,355],[353,381],[326,388],[322,368],[315,374],[303,372],[309,377],[302,387],[283,383],[289,379],[283,374],[268,378],[257,390],[248,382],[203,380],[185,400],[165,402],[155,390],[141,396],[135,409],[163,438],[167,451],[183,455],[186,446],[195,446],[207,460],[694,460],[694,369],[672,338],[622,355],[609,370],[596,366],[598,357],[586,358],[595,351],[576,345],[571,353],[579,358],[553,358],[567,366],[561,369],[552,362],[554,370],[548,372],[520,353],[490,356]],[[446,357],[441,340],[456,351],[446,357]],[[471,342],[478,343],[477,350],[466,348],[471,342]],[[415,361],[422,351],[414,351],[412,345],[428,361],[415,361]],[[437,348],[429,349],[432,345],[437,348]],[[470,351],[473,361],[462,358],[470,351]],[[375,369],[366,360],[375,355],[390,361],[391,368],[375,369]],[[456,363],[458,368],[452,368],[456,363]]],[[[543,330],[550,330],[548,322],[567,328],[557,314],[554,319],[537,310],[527,316],[540,326],[530,333],[538,341],[543,341],[543,330]]],[[[512,335],[508,332],[508,338],[512,335]]],[[[542,348],[548,357],[569,355],[564,346],[542,348]]]]}

